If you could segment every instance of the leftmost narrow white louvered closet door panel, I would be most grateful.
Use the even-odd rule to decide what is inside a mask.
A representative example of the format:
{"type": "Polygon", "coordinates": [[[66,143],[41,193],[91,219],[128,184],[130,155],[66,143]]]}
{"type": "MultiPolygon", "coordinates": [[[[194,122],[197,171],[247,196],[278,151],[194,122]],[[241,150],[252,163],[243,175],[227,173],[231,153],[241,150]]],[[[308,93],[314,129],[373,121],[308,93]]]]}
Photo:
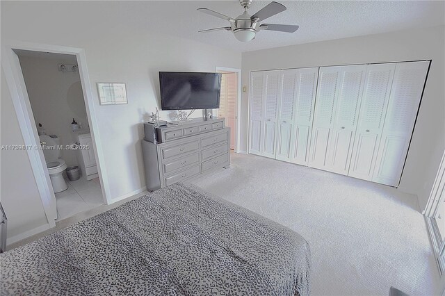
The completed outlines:
{"type": "Polygon", "coordinates": [[[264,72],[252,72],[250,77],[250,122],[249,122],[249,152],[261,155],[261,142],[264,137],[264,101],[266,75],[264,72]]]}

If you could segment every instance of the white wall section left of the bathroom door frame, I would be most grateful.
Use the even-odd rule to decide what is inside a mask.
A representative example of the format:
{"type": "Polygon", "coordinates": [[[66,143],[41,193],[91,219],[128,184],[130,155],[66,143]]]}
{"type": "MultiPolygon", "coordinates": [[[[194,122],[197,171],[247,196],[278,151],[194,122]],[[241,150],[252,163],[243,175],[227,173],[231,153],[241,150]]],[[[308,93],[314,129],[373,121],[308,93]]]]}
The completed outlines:
{"type": "MultiPolygon", "coordinates": [[[[1,69],[0,145],[24,145],[13,101],[5,86],[1,69]]],[[[0,201],[8,217],[8,238],[15,239],[48,222],[26,151],[2,149],[0,161],[0,201]]]]}

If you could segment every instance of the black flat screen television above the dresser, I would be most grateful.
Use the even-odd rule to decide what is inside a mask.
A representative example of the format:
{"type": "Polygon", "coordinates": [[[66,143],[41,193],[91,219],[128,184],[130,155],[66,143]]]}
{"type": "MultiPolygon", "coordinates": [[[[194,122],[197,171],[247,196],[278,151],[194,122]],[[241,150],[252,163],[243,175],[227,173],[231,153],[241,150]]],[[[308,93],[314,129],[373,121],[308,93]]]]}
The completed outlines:
{"type": "Polygon", "coordinates": [[[220,73],[159,72],[162,110],[220,108],[220,73]]]}

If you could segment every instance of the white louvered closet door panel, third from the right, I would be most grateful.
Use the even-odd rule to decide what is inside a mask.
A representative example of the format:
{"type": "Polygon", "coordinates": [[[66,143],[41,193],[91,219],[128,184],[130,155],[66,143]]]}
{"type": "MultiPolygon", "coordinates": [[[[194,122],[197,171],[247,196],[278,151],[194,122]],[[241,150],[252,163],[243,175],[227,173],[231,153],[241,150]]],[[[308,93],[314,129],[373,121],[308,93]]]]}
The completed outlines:
{"type": "Polygon", "coordinates": [[[332,137],[328,143],[325,165],[330,172],[348,174],[365,76],[366,65],[341,68],[339,97],[334,107],[332,137]]]}

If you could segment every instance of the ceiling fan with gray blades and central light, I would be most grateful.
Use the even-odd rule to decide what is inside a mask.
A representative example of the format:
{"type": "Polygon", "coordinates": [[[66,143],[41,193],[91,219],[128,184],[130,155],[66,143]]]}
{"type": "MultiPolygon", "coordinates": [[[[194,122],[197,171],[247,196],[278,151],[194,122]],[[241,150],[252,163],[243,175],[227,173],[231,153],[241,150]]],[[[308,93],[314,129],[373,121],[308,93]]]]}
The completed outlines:
{"type": "Polygon", "coordinates": [[[241,6],[243,6],[244,8],[244,13],[242,15],[239,15],[235,19],[232,17],[228,17],[227,15],[217,13],[216,11],[210,10],[208,8],[198,8],[197,10],[202,13],[207,13],[207,15],[213,15],[213,17],[219,17],[220,19],[225,19],[230,22],[230,26],[221,28],[209,28],[207,30],[198,32],[227,30],[232,31],[236,39],[238,39],[239,41],[248,42],[254,39],[255,34],[260,30],[280,31],[286,33],[293,33],[298,30],[298,26],[296,25],[259,24],[260,21],[263,22],[264,19],[267,19],[268,17],[277,15],[278,13],[282,13],[284,10],[286,10],[286,6],[277,2],[270,2],[257,13],[250,16],[248,13],[248,9],[250,7],[250,4],[252,4],[252,1],[253,0],[239,0],[239,3],[241,3],[241,6]]]}

